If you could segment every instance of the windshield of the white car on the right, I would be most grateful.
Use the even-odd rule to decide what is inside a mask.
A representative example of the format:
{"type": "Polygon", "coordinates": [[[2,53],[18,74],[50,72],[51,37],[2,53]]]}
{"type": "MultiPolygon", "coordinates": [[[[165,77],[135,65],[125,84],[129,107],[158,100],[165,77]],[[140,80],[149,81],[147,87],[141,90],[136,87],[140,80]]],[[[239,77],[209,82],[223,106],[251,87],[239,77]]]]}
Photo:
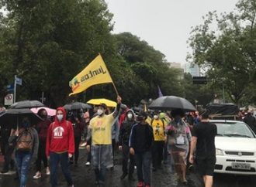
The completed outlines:
{"type": "Polygon", "coordinates": [[[244,122],[213,122],[217,126],[217,135],[227,137],[254,138],[251,129],[244,122]]]}

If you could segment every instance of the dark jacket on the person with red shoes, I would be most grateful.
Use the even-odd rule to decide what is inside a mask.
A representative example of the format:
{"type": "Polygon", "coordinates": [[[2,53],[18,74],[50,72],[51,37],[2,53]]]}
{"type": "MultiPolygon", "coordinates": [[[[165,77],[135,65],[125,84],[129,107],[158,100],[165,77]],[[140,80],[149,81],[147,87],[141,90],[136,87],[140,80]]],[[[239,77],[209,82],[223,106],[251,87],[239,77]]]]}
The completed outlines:
{"type": "Polygon", "coordinates": [[[130,134],[130,148],[135,153],[150,151],[154,141],[153,129],[149,124],[135,124],[130,134]]]}

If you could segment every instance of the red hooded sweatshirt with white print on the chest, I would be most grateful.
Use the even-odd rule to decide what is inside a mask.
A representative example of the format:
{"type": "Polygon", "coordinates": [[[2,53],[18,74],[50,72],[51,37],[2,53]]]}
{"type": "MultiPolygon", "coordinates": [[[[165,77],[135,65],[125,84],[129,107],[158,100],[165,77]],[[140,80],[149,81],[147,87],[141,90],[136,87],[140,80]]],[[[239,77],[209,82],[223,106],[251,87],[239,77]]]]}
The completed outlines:
{"type": "Polygon", "coordinates": [[[58,107],[57,110],[62,111],[63,118],[58,121],[56,115],[54,123],[48,128],[46,155],[49,156],[50,152],[74,154],[73,126],[70,121],[66,121],[67,113],[64,108],[58,107]]]}

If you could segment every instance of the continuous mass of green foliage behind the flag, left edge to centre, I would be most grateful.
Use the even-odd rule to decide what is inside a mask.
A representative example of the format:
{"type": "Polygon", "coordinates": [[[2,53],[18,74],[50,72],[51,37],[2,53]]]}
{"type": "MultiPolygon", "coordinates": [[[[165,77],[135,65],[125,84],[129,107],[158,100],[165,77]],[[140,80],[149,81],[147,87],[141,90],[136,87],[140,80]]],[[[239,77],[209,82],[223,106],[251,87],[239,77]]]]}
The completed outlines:
{"type": "Polygon", "coordinates": [[[68,100],[116,99],[111,84],[68,97],[68,82],[99,53],[126,104],[165,95],[183,96],[182,73],[165,64],[164,54],[129,32],[112,35],[112,14],[102,0],[2,0],[0,15],[0,97],[14,75],[22,78],[17,100],[40,100],[57,107],[68,100]]]}

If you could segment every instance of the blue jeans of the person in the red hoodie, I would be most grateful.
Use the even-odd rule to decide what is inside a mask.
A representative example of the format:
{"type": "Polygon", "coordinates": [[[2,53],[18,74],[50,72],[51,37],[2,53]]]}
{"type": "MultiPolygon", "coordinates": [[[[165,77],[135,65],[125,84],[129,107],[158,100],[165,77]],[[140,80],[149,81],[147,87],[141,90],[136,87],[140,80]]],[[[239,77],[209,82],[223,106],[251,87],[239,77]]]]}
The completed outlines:
{"type": "Polygon", "coordinates": [[[61,170],[67,181],[67,185],[73,185],[73,180],[71,178],[71,172],[68,168],[68,153],[64,152],[57,154],[55,152],[50,152],[50,184],[52,187],[57,186],[57,165],[61,162],[61,170]]]}

